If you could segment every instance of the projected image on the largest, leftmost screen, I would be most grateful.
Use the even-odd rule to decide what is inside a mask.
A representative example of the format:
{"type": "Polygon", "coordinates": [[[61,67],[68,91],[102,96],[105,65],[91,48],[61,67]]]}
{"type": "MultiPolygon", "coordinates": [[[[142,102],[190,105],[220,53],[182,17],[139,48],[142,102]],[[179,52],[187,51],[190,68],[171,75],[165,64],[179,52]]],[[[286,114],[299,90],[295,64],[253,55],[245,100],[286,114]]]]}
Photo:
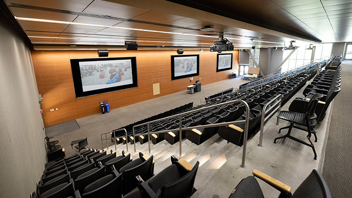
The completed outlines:
{"type": "Polygon", "coordinates": [[[83,91],[132,84],[131,60],[80,62],[83,91]]]}

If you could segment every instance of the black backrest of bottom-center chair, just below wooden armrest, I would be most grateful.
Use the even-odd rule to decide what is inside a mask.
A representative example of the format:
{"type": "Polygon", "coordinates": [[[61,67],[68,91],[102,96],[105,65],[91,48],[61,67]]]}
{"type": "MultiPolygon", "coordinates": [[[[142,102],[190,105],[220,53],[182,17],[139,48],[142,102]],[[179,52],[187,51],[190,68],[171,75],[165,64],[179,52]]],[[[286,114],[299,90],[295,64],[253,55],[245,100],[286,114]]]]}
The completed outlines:
{"type": "Polygon", "coordinates": [[[189,198],[192,196],[193,186],[197,175],[199,161],[192,170],[180,179],[161,187],[161,198],[189,198]]]}

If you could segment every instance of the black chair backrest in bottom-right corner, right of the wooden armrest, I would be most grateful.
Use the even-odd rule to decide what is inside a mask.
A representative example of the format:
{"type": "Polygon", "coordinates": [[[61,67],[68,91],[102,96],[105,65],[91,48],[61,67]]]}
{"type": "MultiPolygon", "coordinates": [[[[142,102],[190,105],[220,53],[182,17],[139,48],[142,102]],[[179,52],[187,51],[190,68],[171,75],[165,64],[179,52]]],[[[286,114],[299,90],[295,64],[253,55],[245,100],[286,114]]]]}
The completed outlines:
{"type": "Polygon", "coordinates": [[[292,198],[332,198],[332,195],[322,174],[313,169],[309,176],[298,186],[292,198]]]}

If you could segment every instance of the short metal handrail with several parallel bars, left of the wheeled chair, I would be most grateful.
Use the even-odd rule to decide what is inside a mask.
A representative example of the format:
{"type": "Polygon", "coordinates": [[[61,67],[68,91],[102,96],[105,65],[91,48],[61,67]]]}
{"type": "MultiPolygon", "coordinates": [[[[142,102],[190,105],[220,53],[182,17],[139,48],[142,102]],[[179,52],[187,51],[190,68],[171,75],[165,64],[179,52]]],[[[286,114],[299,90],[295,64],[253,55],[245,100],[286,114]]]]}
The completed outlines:
{"type": "MultiPolygon", "coordinates": [[[[262,111],[262,122],[261,122],[261,131],[260,131],[260,136],[259,136],[259,144],[258,144],[258,146],[263,146],[263,132],[264,132],[264,123],[268,120],[268,119],[270,119],[270,117],[274,114],[274,113],[276,113],[276,111],[278,111],[279,113],[280,113],[280,111],[281,111],[281,102],[282,102],[282,97],[283,97],[283,95],[282,94],[279,94],[279,95],[277,95],[277,96],[275,96],[272,100],[270,100],[268,103],[266,103],[265,105],[264,105],[264,108],[263,108],[263,111],[262,111]],[[266,110],[266,108],[271,104],[271,103],[273,103],[276,99],[278,99],[278,98],[280,98],[279,99],[279,101],[277,101],[274,105],[272,105],[268,110],[266,110]],[[278,106],[277,106],[278,105],[278,106]],[[272,109],[274,109],[275,108],[275,110],[273,110],[273,111],[271,111],[270,112],[270,110],[272,110],[272,109]],[[269,114],[268,114],[268,116],[266,116],[266,113],[268,113],[268,112],[270,112],[269,114]]],[[[276,121],[276,125],[278,125],[279,124],[279,118],[277,118],[277,121],[276,121]]]]}

